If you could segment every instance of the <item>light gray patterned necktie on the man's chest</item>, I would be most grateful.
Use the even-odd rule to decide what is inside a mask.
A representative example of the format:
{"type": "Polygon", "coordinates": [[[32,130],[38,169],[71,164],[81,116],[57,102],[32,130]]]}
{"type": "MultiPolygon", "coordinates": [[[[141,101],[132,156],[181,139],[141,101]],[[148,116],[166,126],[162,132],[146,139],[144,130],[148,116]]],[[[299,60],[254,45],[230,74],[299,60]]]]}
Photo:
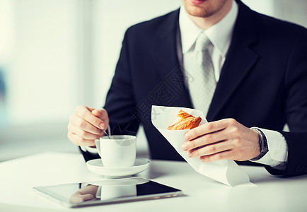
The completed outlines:
{"type": "Polygon", "coordinates": [[[192,61],[194,66],[189,72],[193,80],[188,81],[193,105],[195,109],[201,110],[205,116],[207,116],[216,88],[211,58],[212,49],[212,42],[204,33],[201,33],[195,43],[195,61],[192,61]]]}

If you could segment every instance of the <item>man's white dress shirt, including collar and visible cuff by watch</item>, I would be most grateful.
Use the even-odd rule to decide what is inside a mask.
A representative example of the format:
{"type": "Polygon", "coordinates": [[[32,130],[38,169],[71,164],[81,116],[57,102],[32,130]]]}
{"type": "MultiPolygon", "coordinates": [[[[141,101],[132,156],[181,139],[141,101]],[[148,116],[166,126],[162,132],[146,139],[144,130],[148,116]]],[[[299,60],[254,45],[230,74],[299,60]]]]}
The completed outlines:
{"type": "MultiPolygon", "coordinates": [[[[226,53],[231,43],[233,27],[236,23],[237,16],[238,4],[236,1],[233,1],[231,10],[226,14],[226,16],[219,20],[218,23],[212,25],[212,27],[204,30],[204,33],[214,45],[212,51],[212,63],[214,66],[216,82],[219,81],[221,69],[226,59],[226,53]]],[[[194,55],[193,51],[195,48],[195,42],[199,33],[202,33],[203,30],[198,28],[190,19],[184,6],[180,7],[179,28],[177,35],[178,59],[180,65],[183,66],[183,69],[187,72],[184,74],[186,76],[185,78],[188,79],[188,72],[194,66],[191,61],[193,61],[192,57],[194,55]]],[[[267,129],[260,130],[267,137],[269,151],[260,158],[260,160],[253,162],[270,165],[271,167],[283,170],[286,167],[286,161],[288,160],[288,146],[286,144],[286,139],[277,131],[267,129]]]]}

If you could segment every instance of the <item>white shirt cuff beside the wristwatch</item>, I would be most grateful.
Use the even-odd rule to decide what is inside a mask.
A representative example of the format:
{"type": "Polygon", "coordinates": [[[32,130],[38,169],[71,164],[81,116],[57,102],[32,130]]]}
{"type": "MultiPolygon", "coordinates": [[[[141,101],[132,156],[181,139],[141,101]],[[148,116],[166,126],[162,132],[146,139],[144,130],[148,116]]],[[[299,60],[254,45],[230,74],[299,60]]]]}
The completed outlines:
{"type": "Polygon", "coordinates": [[[285,167],[288,161],[288,145],[286,144],[284,136],[278,131],[259,127],[257,127],[257,129],[260,129],[263,134],[265,134],[269,151],[262,158],[254,160],[253,162],[270,165],[271,167],[278,167],[278,169],[285,167]]]}

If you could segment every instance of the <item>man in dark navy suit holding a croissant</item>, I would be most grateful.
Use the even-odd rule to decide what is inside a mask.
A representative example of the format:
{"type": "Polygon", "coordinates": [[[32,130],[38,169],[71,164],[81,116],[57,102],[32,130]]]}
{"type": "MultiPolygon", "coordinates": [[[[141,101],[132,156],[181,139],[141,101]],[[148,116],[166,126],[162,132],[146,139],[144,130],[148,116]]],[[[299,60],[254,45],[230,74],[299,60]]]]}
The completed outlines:
{"type": "Polygon", "coordinates": [[[209,123],[185,135],[190,157],[307,173],[306,28],[241,1],[183,4],[127,30],[104,109],[76,107],[69,139],[90,160],[98,156],[89,146],[109,124],[112,134],[135,134],[142,124],[151,158],[183,160],[151,124],[151,105],[195,107],[209,123]]]}

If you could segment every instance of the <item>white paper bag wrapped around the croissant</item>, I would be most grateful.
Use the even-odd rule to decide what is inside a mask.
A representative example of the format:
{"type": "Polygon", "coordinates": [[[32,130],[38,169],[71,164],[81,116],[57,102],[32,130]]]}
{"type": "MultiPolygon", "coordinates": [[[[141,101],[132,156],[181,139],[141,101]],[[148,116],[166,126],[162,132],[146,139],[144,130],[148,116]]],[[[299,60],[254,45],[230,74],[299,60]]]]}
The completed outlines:
{"type": "Polygon", "coordinates": [[[201,111],[184,108],[184,107],[163,107],[153,105],[151,108],[151,122],[156,129],[170,142],[175,150],[200,174],[215,179],[229,186],[238,184],[251,184],[248,175],[233,160],[219,160],[205,163],[199,158],[189,158],[187,153],[182,150],[181,146],[185,142],[185,133],[189,129],[184,130],[168,130],[168,126],[178,122],[177,114],[180,110],[188,112],[195,117],[201,117],[202,122],[199,125],[207,123],[201,111]]]}

